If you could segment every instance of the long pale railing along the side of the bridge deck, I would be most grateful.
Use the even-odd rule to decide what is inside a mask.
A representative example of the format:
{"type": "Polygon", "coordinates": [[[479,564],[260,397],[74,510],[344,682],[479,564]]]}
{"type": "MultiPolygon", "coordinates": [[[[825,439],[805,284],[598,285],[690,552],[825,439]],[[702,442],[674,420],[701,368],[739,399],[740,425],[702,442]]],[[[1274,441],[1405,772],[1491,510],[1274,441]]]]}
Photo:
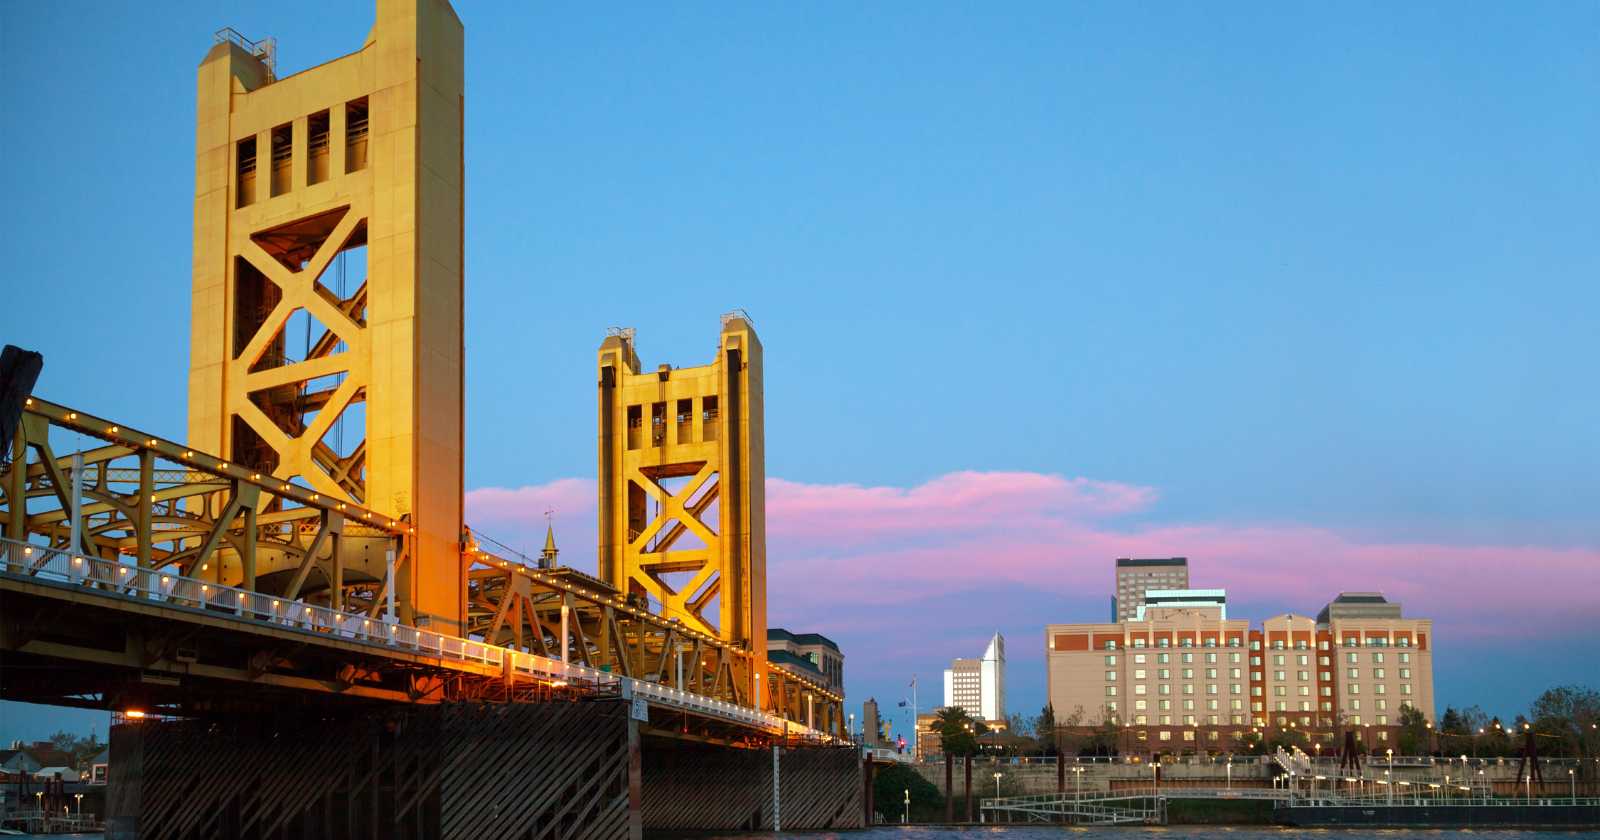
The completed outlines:
{"type": "Polygon", "coordinates": [[[781,731],[805,739],[824,739],[822,733],[808,730],[778,715],[770,715],[733,702],[706,698],[691,691],[670,688],[600,669],[549,659],[533,653],[515,651],[499,645],[474,642],[418,627],[387,622],[378,618],[346,613],[315,603],[274,598],[261,592],[222,586],[195,578],[139,568],[133,563],[85,557],[32,542],[0,538],[0,570],[10,576],[34,578],[69,584],[85,590],[117,598],[162,603],[187,610],[200,610],[214,616],[240,621],[267,622],[291,630],[318,634],[386,650],[411,651],[456,662],[475,662],[490,667],[509,667],[515,674],[546,680],[549,683],[582,685],[618,691],[624,698],[643,698],[646,702],[683,709],[686,712],[718,717],[734,723],[781,731]]]}

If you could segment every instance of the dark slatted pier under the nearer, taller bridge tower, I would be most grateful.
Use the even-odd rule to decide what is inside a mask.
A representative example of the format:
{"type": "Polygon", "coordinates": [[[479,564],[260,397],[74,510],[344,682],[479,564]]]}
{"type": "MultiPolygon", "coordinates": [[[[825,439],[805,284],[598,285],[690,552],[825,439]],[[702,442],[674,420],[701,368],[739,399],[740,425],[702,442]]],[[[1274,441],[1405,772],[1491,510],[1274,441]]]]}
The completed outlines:
{"type": "Polygon", "coordinates": [[[107,840],[637,840],[622,702],[450,704],[112,730],[107,840]]]}

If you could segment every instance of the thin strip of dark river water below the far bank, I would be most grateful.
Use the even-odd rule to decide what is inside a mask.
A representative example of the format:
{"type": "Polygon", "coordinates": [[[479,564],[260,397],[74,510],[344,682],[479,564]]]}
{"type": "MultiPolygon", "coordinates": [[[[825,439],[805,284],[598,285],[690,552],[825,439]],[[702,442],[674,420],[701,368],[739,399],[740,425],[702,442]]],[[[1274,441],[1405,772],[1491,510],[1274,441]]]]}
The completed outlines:
{"type": "MultiPolygon", "coordinates": [[[[720,840],[773,840],[773,834],[717,834],[720,840]]],[[[1070,827],[1070,826],[1006,826],[1006,827],[878,827],[864,832],[787,834],[795,840],[1291,840],[1323,837],[1326,840],[1566,840],[1600,837],[1600,832],[1523,832],[1461,829],[1272,829],[1227,826],[1162,826],[1162,827],[1070,827]]]]}

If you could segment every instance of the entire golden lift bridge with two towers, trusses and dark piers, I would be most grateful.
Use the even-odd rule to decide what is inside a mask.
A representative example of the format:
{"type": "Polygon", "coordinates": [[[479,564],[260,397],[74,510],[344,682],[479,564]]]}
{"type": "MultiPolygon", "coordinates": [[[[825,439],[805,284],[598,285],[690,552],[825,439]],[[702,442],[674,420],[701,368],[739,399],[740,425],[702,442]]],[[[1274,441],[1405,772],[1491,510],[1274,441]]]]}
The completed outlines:
{"type": "Polygon", "coordinates": [[[462,56],[445,0],[283,78],[219,34],[187,437],[26,398],[0,698],[125,715],[117,837],[859,826],[843,698],[765,656],[747,317],[701,368],[602,342],[597,574],[464,522],[462,56]]]}

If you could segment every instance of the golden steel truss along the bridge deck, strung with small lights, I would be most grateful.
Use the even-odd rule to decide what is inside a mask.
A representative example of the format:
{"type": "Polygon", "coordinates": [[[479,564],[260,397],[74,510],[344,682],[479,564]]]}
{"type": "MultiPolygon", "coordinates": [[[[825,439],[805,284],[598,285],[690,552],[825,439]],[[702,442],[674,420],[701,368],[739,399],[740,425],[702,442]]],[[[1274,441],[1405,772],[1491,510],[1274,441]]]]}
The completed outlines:
{"type": "MultiPolygon", "coordinates": [[[[461,546],[462,637],[402,624],[394,581],[411,560],[410,522],[38,397],[27,400],[0,474],[0,531],[3,576],[67,584],[77,590],[67,603],[131,598],[227,616],[256,635],[291,630],[381,648],[344,662],[333,656],[322,680],[293,677],[314,656],[267,651],[243,669],[246,680],[277,674],[280,685],[402,702],[626,691],[702,718],[843,734],[843,698],[805,677],[770,667],[760,699],[746,690],[765,651],[758,661],[581,571],[499,557],[470,533],[461,546]],[[77,451],[62,454],[64,442],[77,451]]],[[[0,653],[14,662],[26,635],[5,635],[0,653]]],[[[182,645],[168,640],[134,661],[155,664],[182,645]]],[[[6,683],[0,691],[10,699],[99,707],[126,699],[115,685],[6,683]]],[[[166,710],[182,714],[182,699],[174,702],[166,710]]]]}

